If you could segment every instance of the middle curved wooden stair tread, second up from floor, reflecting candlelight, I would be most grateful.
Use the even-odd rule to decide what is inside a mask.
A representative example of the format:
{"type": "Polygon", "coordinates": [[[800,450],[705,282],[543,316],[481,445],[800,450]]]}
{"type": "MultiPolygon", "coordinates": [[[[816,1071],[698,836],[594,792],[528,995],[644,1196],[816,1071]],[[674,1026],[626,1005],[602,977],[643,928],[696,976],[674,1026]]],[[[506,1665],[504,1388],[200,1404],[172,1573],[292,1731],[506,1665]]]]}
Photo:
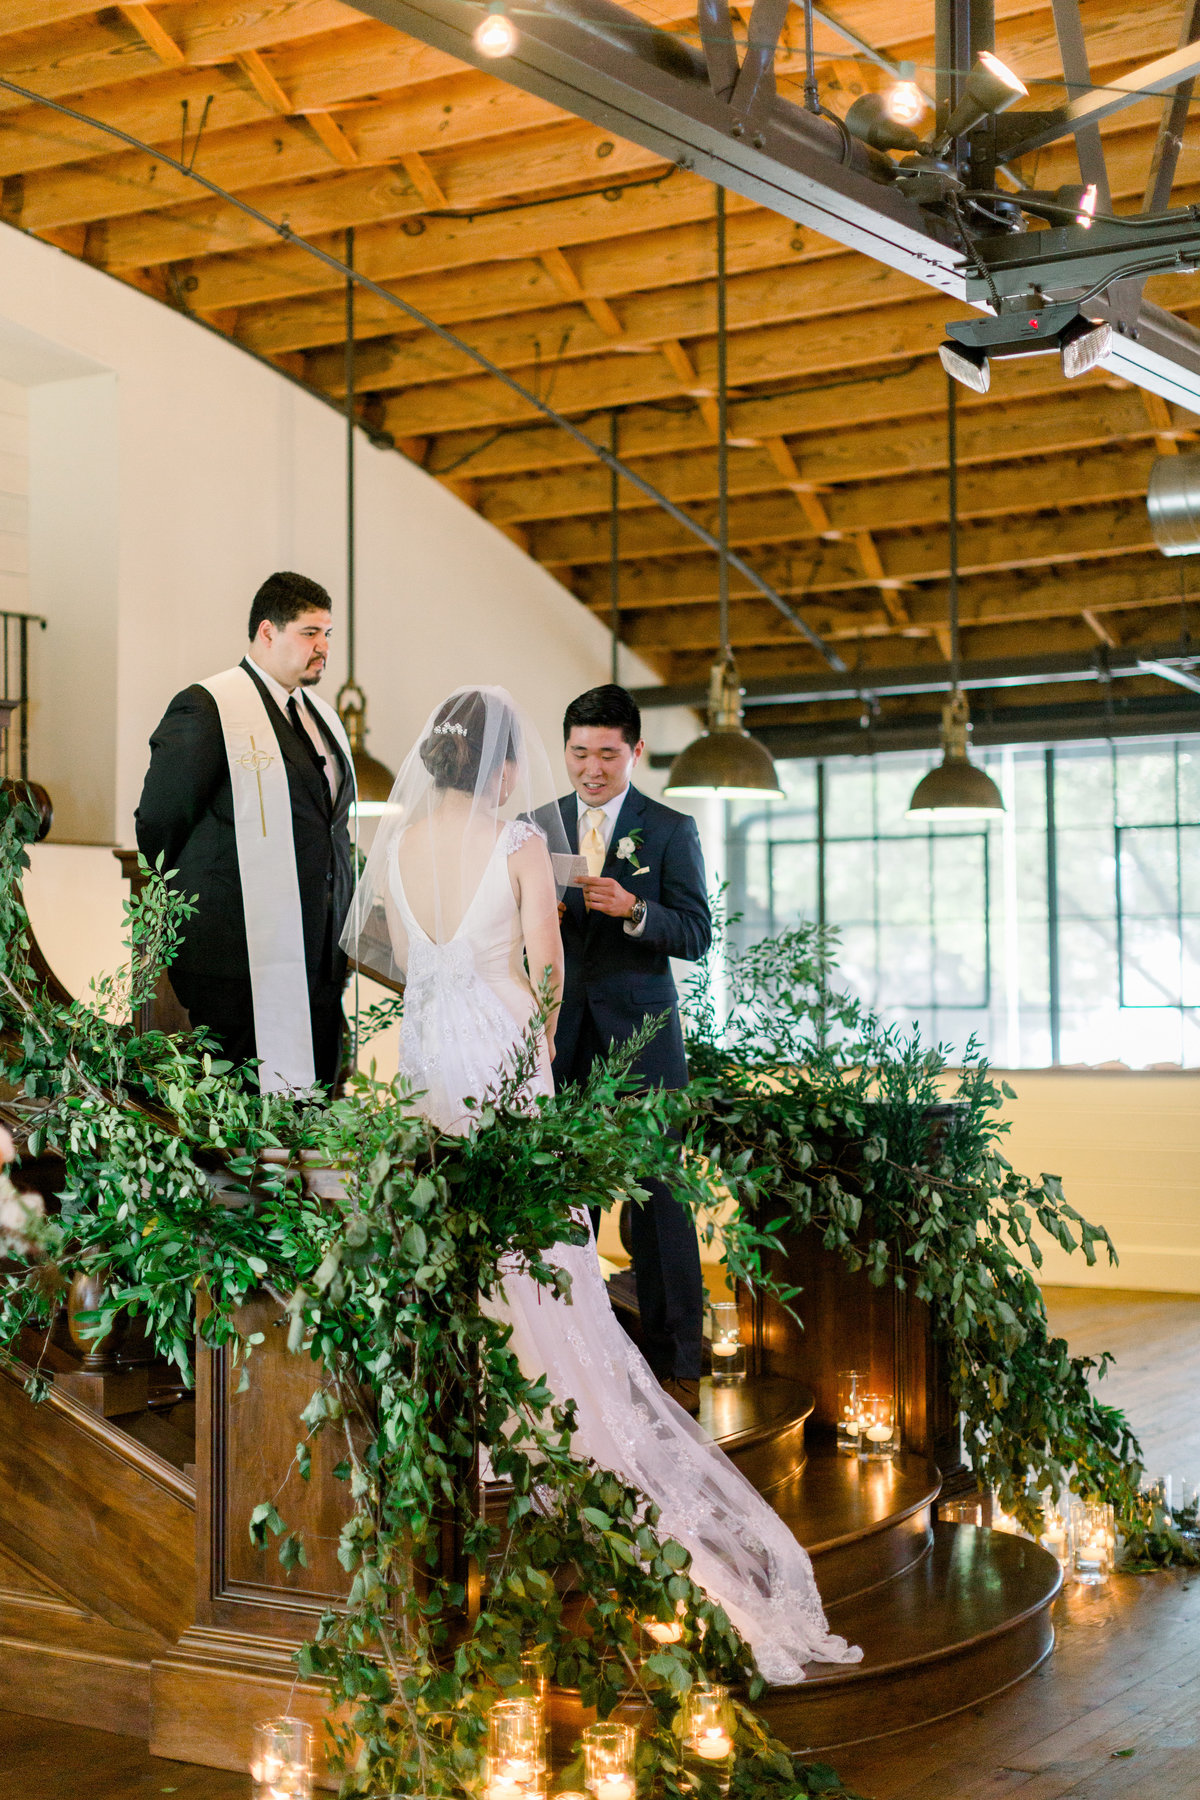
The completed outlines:
{"type": "Polygon", "coordinates": [[[941,1476],[925,1456],[860,1463],[837,1451],[810,1451],[801,1474],[770,1490],[770,1503],[811,1557],[855,1544],[928,1508],[941,1476]]]}

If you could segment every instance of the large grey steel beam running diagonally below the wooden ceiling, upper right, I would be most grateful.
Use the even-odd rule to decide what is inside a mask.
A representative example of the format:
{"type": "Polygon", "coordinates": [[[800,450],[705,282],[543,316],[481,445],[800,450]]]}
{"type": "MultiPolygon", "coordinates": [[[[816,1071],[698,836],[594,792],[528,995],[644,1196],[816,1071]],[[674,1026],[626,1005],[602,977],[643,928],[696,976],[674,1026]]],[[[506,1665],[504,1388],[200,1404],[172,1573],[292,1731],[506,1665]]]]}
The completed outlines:
{"type": "MultiPolygon", "coordinates": [[[[838,121],[774,94],[770,79],[763,79],[761,52],[738,65],[732,43],[721,49],[727,0],[702,0],[703,52],[648,25],[613,0],[524,0],[513,9],[520,41],[502,61],[482,58],[471,41],[482,18],[480,0],[358,4],[360,11],[462,63],[538,94],[680,169],[703,175],[981,311],[993,311],[982,274],[982,265],[991,265],[993,256],[1002,265],[1000,279],[1011,283],[1007,292],[1024,292],[1018,283],[1025,288],[1049,286],[1038,261],[1052,250],[1047,238],[1058,245],[1052,250],[1056,279],[1074,281],[1076,288],[1103,275],[1114,281],[1135,275],[1148,259],[1150,241],[1133,230],[1121,241],[1106,239],[1103,252],[1096,254],[1099,239],[1079,227],[993,238],[986,248],[973,247],[968,259],[955,241],[955,229],[896,187],[887,158],[855,142],[838,121]],[[752,79],[743,86],[747,72],[752,79]],[[1085,266],[1088,274],[1079,274],[1085,266]]],[[[777,11],[757,4],[752,16],[770,36],[777,11]]],[[[1196,47],[1162,58],[1141,74],[1153,81],[1153,92],[1166,92],[1178,86],[1193,65],[1200,67],[1196,47]]],[[[1112,103],[1106,110],[1135,97],[1124,90],[1106,94],[1112,103]]],[[[1092,115],[1079,112],[1078,121],[1092,122],[1092,115]]],[[[1060,124],[1052,135],[1063,135],[1063,130],[1072,126],[1060,124]]],[[[1094,230],[1099,229],[1101,221],[1096,221],[1094,230]]],[[[1180,266],[1200,261],[1200,220],[1187,220],[1182,227],[1164,221],[1164,230],[1169,238],[1159,247],[1164,257],[1178,254],[1180,266]]],[[[1088,313],[1108,317],[1105,301],[1088,304],[1088,313]]],[[[1200,331],[1144,302],[1133,322],[1114,317],[1114,324],[1124,329],[1114,338],[1114,371],[1137,387],[1200,412],[1200,331]]]]}

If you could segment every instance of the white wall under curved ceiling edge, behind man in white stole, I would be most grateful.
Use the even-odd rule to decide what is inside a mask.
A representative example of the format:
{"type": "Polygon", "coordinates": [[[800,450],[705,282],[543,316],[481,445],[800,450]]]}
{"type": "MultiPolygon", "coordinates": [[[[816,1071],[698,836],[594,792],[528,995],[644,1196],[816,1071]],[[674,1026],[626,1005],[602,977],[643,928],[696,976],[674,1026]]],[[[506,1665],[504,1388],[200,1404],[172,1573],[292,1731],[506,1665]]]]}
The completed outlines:
{"type": "MultiPolygon", "coordinates": [[[[299,569],[342,605],[345,427],[194,320],[2,230],[0,380],[31,396],[29,598],[50,621],[31,774],[52,788],[56,839],[130,844],[149,731],[173,693],[243,653],[263,578],[299,569]]],[[[0,400],[0,457],[5,430],[0,400]]],[[[0,493],[4,479],[0,463],[0,493]]],[[[653,680],[622,662],[631,684],[653,680]]],[[[554,747],[563,704],[608,679],[608,634],[432,477],[360,437],[358,677],[369,747],[390,767],[471,680],[511,688],[554,747]]],[[[335,652],[329,698],[342,679],[335,652]]],[[[653,718],[655,747],[693,733],[687,715],[653,718]]]]}

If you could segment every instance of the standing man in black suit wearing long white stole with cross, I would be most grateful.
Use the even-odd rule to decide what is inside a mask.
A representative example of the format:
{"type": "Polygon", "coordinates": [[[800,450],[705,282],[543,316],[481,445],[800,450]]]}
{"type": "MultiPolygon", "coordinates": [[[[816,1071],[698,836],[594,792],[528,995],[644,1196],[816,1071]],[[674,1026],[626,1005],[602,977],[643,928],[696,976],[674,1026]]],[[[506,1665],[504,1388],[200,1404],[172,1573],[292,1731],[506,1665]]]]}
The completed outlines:
{"type": "Polygon", "coordinates": [[[331,626],[318,581],[268,576],[246,655],[157,725],[137,808],[139,850],[196,900],[171,986],[232,1062],[259,1060],[270,1093],[333,1089],[342,1066],[354,769],[313,693],[331,626]]]}

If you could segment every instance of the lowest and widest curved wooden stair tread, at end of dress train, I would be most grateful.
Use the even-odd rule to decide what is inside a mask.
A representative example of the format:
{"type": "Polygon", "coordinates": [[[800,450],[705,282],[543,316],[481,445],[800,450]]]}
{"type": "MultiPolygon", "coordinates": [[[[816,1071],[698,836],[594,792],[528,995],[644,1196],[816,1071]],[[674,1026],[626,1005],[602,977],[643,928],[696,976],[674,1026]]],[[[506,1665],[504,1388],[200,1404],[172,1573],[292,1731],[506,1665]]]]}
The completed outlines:
{"type": "Polygon", "coordinates": [[[874,1588],[828,1607],[829,1629],[862,1645],[860,1663],[810,1663],[804,1697],[869,1683],[898,1669],[955,1656],[1013,1631],[1061,1588],[1054,1557],[1027,1537],[973,1525],[936,1525],[927,1557],[874,1588]]]}

